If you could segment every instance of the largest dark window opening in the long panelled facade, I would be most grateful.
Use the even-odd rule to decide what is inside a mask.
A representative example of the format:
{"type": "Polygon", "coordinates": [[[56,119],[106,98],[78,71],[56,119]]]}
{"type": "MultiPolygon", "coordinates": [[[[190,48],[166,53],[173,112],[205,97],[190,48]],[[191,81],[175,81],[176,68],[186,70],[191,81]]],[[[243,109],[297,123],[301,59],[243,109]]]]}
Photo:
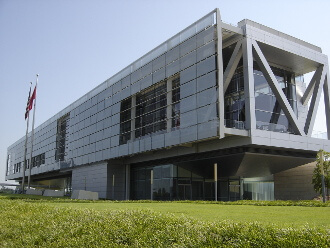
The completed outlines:
{"type": "Polygon", "coordinates": [[[120,145],[126,144],[132,137],[139,138],[179,126],[179,76],[160,81],[121,102],[120,145]],[[167,116],[168,113],[170,116],[167,116]]]}

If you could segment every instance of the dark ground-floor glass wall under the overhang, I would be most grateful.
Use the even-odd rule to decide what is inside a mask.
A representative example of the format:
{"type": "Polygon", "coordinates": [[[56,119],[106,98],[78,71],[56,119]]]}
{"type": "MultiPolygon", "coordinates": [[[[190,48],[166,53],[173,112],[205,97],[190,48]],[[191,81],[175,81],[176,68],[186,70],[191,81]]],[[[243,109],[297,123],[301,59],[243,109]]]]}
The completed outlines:
{"type": "MultiPolygon", "coordinates": [[[[213,165],[132,166],[130,175],[132,200],[215,200],[213,165]]],[[[217,194],[221,201],[241,199],[240,178],[218,178],[217,194]]]]}

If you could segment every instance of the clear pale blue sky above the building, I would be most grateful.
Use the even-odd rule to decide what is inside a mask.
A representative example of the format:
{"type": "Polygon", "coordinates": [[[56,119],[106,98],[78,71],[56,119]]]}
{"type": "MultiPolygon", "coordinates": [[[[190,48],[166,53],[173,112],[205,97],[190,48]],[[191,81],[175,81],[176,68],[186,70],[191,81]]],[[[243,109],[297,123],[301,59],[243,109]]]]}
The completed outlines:
{"type": "MultiPolygon", "coordinates": [[[[330,55],[326,0],[0,0],[0,182],[36,73],[38,126],[214,8],[224,22],[251,19],[330,55]]],[[[325,131],[323,106],[315,129],[325,131]]]]}

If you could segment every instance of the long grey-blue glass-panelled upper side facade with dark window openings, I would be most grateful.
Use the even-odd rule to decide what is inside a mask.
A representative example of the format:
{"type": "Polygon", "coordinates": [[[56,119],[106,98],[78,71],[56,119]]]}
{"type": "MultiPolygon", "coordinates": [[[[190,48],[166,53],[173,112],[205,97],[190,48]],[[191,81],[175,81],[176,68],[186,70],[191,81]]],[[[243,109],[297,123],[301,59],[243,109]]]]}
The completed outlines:
{"type": "MultiPolygon", "coordinates": [[[[33,157],[52,171],[216,137],[216,37],[212,12],[36,128],[33,157]]],[[[12,179],[23,150],[8,150],[12,179]]]]}

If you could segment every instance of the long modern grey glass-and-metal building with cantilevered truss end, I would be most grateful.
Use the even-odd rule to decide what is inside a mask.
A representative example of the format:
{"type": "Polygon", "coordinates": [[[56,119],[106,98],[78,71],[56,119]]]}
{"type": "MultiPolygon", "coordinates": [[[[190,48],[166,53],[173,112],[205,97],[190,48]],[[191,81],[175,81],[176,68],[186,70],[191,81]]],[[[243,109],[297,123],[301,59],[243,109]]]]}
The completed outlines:
{"type": "MultiPolygon", "coordinates": [[[[40,125],[32,184],[118,200],[280,198],[274,175],[330,150],[328,75],[319,47],[215,9],[40,125]],[[328,139],[311,136],[322,92],[328,139]]],[[[8,148],[8,180],[22,181],[24,141],[8,148]]]]}

